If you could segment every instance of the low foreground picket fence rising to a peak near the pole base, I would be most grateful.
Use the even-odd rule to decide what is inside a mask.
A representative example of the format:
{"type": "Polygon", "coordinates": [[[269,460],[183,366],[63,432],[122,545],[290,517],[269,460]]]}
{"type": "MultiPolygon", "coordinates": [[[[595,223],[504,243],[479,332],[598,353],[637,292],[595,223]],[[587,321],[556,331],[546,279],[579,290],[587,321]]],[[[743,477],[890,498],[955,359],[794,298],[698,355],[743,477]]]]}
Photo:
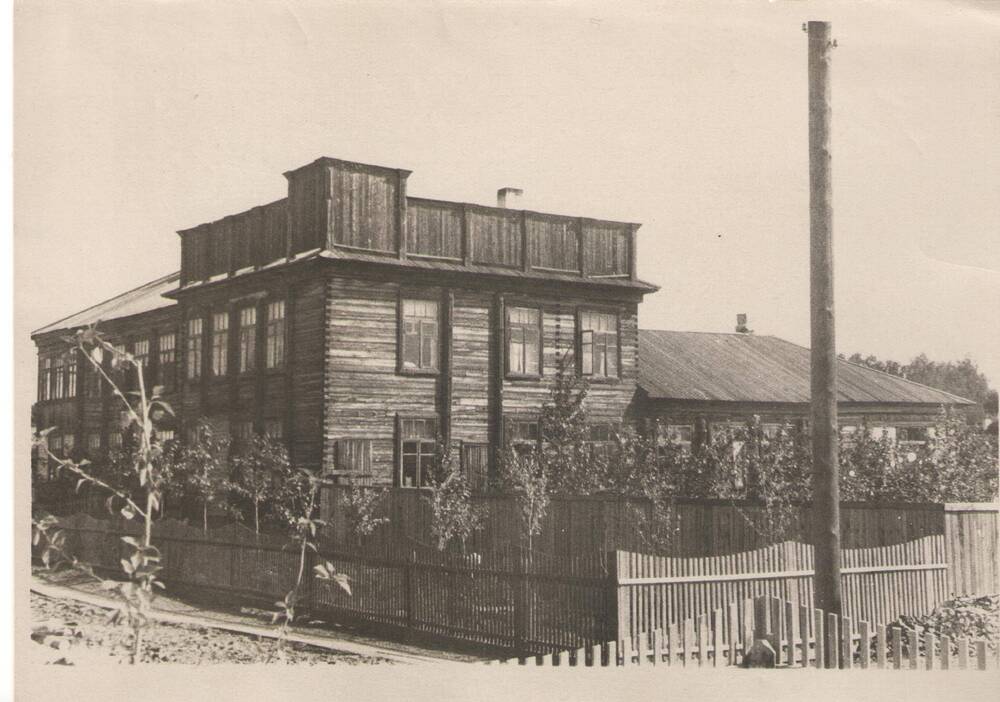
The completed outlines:
{"type": "Polygon", "coordinates": [[[666,630],[538,656],[489,663],[534,666],[714,669],[727,666],[825,669],[987,670],[1000,646],[919,629],[872,625],[760,596],[732,602],[666,630]],[[762,645],[766,642],[766,647],[762,645]]]}

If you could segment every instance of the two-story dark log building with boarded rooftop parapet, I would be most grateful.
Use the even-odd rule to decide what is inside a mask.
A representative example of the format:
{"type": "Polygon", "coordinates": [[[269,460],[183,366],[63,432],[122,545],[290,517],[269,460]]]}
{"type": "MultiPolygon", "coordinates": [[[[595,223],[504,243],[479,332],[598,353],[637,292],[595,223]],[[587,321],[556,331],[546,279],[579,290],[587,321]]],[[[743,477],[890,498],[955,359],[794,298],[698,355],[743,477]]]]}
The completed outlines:
{"type": "MultiPolygon", "coordinates": [[[[443,441],[487,475],[533,441],[561,363],[591,382],[595,432],[636,394],[638,225],[407,194],[409,171],[321,158],[287,196],[179,232],[180,272],[34,333],[36,426],[53,450],[120,442],[115,398],[74,329],[98,324],[202,418],[282,437],[298,465],[419,485],[443,441]]],[[[128,379],[125,379],[126,381],[128,379]]]]}

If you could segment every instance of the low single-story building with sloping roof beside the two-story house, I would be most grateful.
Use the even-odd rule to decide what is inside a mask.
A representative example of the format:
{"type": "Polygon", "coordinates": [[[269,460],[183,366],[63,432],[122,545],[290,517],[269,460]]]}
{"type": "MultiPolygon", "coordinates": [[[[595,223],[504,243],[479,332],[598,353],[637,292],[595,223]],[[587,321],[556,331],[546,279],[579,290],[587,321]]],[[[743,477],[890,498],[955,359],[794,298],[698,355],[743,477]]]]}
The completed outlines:
{"type": "MultiPolygon", "coordinates": [[[[760,417],[765,430],[807,420],[810,352],[774,336],[639,330],[639,380],[630,407],[640,423],[659,422],[687,442],[699,420],[743,424],[760,417]]],[[[975,406],[951,393],[841,360],[839,421],[846,432],[862,422],[900,441],[922,441],[942,408],[975,406]]]]}

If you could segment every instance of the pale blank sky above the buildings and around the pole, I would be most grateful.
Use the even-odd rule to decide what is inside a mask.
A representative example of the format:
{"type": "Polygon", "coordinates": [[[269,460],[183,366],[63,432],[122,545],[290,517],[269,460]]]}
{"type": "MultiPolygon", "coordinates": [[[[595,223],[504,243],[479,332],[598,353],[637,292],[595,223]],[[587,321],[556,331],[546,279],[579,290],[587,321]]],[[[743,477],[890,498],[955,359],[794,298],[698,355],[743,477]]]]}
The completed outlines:
{"type": "Polygon", "coordinates": [[[807,20],[829,20],[838,351],[1000,384],[1000,3],[15,4],[30,332],[180,265],[318,156],[411,195],[642,222],[650,329],[809,340],[807,20]],[[993,310],[991,312],[991,310],[993,310]]]}

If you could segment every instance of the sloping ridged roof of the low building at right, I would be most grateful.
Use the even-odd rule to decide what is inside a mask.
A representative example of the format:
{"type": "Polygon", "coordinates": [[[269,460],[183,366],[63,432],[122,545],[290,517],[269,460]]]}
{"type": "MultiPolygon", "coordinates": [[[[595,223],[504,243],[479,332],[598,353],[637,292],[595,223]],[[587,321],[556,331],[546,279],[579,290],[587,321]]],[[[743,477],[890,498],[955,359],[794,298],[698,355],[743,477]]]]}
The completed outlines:
{"type": "MultiPolygon", "coordinates": [[[[809,365],[809,349],[773,336],[639,331],[639,386],[652,399],[809,402],[809,365]]],[[[972,404],[847,361],[837,401],[972,404]]]]}

